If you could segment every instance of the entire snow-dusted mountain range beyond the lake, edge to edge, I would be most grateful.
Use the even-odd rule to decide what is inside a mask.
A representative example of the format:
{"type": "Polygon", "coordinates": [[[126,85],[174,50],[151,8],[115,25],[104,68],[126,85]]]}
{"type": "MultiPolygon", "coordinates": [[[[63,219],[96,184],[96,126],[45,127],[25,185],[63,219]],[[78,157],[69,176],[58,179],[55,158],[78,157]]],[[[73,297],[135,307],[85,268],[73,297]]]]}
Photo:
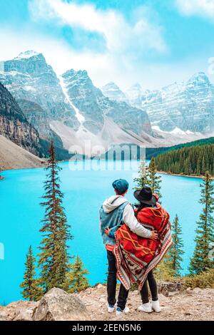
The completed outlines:
{"type": "Polygon", "coordinates": [[[75,145],[81,153],[86,141],[102,153],[122,143],[156,148],[213,133],[214,91],[202,73],[186,85],[143,91],[136,84],[125,94],[114,83],[101,91],[86,71],[71,69],[57,77],[35,51],[1,62],[0,68],[0,82],[29,123],[44,139],[54,131],[62,149],[75,145]]]}

